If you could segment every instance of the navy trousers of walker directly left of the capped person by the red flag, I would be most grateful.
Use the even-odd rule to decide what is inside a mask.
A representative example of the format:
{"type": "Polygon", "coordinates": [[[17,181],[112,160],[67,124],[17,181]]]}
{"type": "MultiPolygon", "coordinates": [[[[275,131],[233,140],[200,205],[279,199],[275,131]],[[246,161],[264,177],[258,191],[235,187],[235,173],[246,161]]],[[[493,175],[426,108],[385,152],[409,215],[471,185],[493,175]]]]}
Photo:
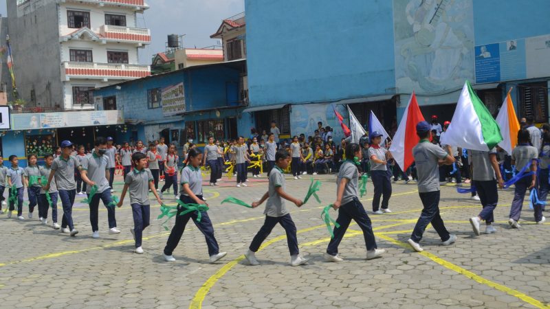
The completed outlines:
{"type": "Polygon", "coordinates": [[[371,218],[366,214],[366,211],[358,198],[353,198],[352,201],[345,203],[338,209],[338,218],[336,222],[340,227],[334,227],[334,238],[329,242],[327,247],[327,253],[330,255],[338,254],[338,245],[344,238],[351,219],[355,220],[359,227],[363,231],[365,238],[365,245],[367,250],[376,249],[376,240],[374,238],[373,226],[371,224],[371,218]]]}

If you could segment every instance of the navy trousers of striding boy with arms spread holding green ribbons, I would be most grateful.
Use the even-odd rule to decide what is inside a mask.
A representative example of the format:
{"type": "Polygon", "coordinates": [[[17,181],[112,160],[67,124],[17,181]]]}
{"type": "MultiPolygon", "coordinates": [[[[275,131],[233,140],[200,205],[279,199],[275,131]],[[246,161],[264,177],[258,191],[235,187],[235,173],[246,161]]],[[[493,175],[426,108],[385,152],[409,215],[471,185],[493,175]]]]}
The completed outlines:
{"type": "Polygon", "coordinates": [[[296,238],[296,225],[294,225],[294,221],[292,221],[290,214],[285,214],[285,216],[281,217],[265,216],[263,226],[258,233],[256,233],[254,239],[252,239],[252,243],[249,247],[250,251],[256,252],[260,249],[262,242],[267,236],[270,236],[271,231],[277,223],[279,223],[287,233],[287,243],[290,255],[298,255],[300,253],[298,250],[298,238],[296,238]]]}

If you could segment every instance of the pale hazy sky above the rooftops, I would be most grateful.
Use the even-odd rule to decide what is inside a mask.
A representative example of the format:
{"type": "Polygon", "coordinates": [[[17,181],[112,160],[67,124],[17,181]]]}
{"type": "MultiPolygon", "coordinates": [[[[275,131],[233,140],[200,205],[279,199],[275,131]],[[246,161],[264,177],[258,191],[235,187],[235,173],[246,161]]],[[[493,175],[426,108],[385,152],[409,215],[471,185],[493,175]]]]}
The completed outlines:
{"type": "MultiPolygon", "coordinates": [[[[7,16],[5,3],[0,0],[0,14],[7,16]]],[[[151,56],[164,52],[168,34],[185,34],[184,47],[197,48],[217,45],[210,38],[221,21],[244,11],[244,0],[146,0],[151,7],[138,14],[137,26],[151,29],[151,45],[139,50],[140,63],[149,64],[151,56]]]]}

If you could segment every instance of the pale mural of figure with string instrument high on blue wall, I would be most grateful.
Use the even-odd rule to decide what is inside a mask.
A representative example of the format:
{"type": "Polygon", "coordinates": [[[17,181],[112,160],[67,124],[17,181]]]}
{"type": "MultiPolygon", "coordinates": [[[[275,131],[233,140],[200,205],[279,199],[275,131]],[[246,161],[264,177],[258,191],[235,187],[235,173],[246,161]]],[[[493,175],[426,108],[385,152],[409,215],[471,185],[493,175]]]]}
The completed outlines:
{"type": "Polygon", "coordinates": [[[394,0],[398,91],[437,93],[474,79],[472,0],[394,0]]]}

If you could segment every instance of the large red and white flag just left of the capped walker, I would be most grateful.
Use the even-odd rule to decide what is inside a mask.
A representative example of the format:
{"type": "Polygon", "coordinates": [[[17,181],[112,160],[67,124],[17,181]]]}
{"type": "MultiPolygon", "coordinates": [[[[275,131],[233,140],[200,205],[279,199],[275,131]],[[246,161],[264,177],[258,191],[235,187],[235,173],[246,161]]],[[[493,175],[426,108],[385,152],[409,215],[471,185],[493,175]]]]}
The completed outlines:
{"type": "Polygon", "coordinates": [[[424,116],[420,112],[417,97],[413,92],[390,147],[391,155],[401,170],[406,170],[415,161],[412,157],[412,148],[420,140],[417,135],[417,124],[423,121],[424,116]]]}

